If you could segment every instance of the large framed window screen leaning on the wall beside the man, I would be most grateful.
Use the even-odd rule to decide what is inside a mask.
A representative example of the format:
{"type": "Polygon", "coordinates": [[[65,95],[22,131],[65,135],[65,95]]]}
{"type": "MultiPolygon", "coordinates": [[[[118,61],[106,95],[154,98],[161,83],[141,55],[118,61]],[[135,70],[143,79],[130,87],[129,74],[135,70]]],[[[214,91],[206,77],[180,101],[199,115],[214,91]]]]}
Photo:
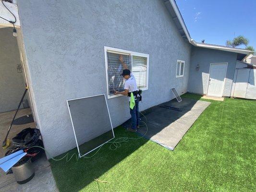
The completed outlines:
{"type": "Polygon", "coordinates": [[[114,138],[105,95],[67,100],[79,156],[114,138]]]}

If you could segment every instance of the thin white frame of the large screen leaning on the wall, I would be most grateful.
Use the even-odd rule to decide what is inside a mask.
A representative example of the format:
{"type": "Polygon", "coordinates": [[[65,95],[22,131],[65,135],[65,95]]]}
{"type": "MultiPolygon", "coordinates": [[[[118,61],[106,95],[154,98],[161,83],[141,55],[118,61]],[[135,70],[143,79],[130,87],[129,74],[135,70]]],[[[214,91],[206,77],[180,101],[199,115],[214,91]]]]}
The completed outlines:
{"type": "MultiPolygon", "coordinates": [[[[108,106],[108,103],[107,103],[106,95],[105,95],[105,94],[100,94],[100,95],[95,95],[95,96],[104,96],[105,102],[106,102],[106,105],[107,105],[107,109],[108,109],[108,113],[109,113],[109,117],[110,117],[110,110],[109,110],[109,106],[108,106]]],[[[111,121],[111,118],[110,118],[110,124],[111,124],[112,133],[113,133],[113,138],[111,138],[110,140],[106,141],[106,142],[103,143],[103,144],[100,144],[98,147],[92,149],[91,151],[85,153],[84,155],[81,155],[81,154],[80,154],[79,145],[78,145],[78,142],[77,142],[77,138],[76,138],[76,134],[75,134],[75,130],[74,130],[74,125],[73,125],[73,120],[72,120],[72,116],[71,116],[71,112],[70,112],[70,108],[69,108],[69,103],[68,103],[68,102],[69,102],[69,101],[72,101],[72,100],[83,99],[83,98],[88,98],[88,97],[94,97],[94,96],[85,96],[85,97],[80,97],[80,98],[67,99],[67,105],[68,105],[69,115],[70,115],[70,119],[71,119],[71,123],[72,123],[72,127],[73,127],[75,143],[76,143],[77,150],[78,150],[78,156],[79,156],[80,158],[81,158],[82,156],[86,156],[87,154],[91,153],[91,152],[94,151],[95,149],[98,149],[99,147],[101,147],[103,144],[106,144],[106,143],[108,143],[109,141],[111,141],[112,139],[115,138],[115,134],[114,134],[114,130],[113,130],[113,125],[112,125],[112,121],[111,121]]]]}

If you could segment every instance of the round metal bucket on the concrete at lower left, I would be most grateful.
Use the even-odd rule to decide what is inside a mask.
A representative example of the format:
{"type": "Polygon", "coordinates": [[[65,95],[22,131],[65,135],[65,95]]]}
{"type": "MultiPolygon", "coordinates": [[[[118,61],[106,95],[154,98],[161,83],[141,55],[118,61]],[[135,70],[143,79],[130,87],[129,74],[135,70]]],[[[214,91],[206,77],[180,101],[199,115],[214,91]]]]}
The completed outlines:
{"type": "Polygon", "coordinates": [[[31,163],[31,158],[24,157],[12,167],[12,172],[17,183],[24,184],[35,176],[35,170],[31,163]]]}

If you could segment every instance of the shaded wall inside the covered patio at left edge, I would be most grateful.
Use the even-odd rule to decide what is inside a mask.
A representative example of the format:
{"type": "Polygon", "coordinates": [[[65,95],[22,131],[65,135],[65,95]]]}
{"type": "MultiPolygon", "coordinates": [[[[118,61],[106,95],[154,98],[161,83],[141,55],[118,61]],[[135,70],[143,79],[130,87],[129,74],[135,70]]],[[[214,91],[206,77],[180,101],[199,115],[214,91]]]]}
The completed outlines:
{"type": "Polygon", "coordinates": [[[17,71],[18,65],[21,61],[12,28],[0,28],[0,113],[16,110],[24,93],[24,75],[17,71]]]}

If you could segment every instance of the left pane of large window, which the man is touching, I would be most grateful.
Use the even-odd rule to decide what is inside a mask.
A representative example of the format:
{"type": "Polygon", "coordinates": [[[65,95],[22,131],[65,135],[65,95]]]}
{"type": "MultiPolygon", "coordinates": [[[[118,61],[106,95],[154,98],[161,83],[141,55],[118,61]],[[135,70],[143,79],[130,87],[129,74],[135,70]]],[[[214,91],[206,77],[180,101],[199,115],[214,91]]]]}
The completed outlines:
{"type": "MultiPolygon", "coordinates": [[[[123,61],[130,69],[130,56],[122,55],[123,61]]],[[[107,52],[108,57],[108,89],[109,95],[114,95],[114,91],[124,91],[124,79],[120,74],[122,73],[122,64],[119,61],[119,54],[107,52]]]]}

